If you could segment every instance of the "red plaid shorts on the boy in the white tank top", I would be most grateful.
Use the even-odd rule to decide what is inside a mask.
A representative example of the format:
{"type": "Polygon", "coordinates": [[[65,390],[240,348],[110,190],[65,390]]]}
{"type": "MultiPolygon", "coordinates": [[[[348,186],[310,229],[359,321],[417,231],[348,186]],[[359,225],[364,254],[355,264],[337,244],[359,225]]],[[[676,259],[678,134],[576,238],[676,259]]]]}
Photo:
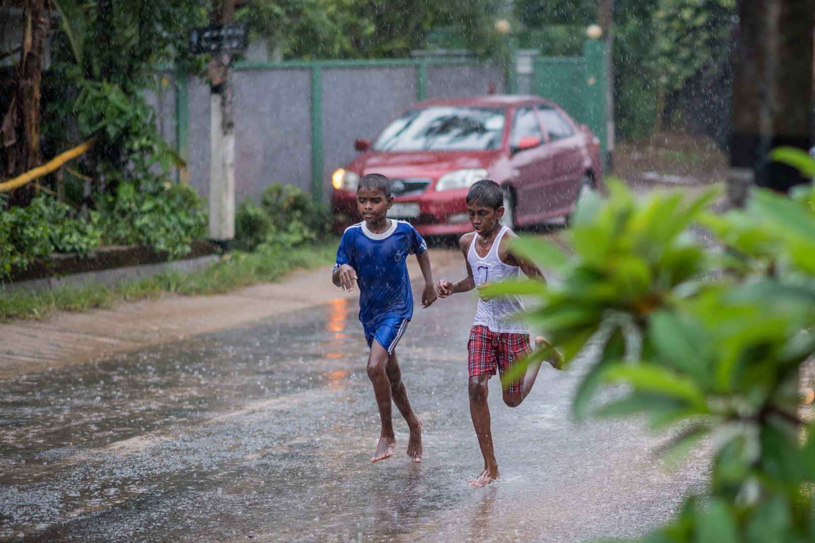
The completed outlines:
{"type": "MultiPolygon", "coordinates": [[[[477,324],[469,330],[467,344],[469,376],[496,374],[496,366],[501,374],[515,365],[518,358],[532,352],[529,334],[499,334],[491,332],[487,326],[477,324]]],[[[523,392],[523,377],[504,388],[507,394],[523,392]]]]}

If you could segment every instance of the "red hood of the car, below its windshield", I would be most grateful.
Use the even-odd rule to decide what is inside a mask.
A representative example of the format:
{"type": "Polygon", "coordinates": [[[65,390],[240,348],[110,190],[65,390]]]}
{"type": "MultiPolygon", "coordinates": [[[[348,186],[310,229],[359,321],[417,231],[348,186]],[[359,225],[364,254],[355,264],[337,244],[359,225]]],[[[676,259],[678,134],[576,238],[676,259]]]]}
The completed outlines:
{"type": "Polygon", "coordinates": [[[368,151],[351,160],[348,169],[361,175],[381,173],[388,177],[436,179],[456,169],[489,169],[499,156],[500,151],[368,151]]]}

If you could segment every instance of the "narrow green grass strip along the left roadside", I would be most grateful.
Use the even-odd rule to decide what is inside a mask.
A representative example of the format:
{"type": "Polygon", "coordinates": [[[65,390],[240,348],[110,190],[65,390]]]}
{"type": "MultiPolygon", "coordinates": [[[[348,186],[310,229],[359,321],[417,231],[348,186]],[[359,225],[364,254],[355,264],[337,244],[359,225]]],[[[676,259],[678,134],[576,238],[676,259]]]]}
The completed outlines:
{"type": "Polygon", "coordinates": [[[204,271],[167,270],[149,278],[121,282],[116,287],[88,283],[34,293],[0,291],[0,321],[45,318],[59,310],[109,308],[120,300],[158,298],[165,292],[184,296],[224,294],[258,282],[274,281],[293,269],[331,264],[336,255],[337,241],[293,249],[270,247],[251,253],[236,251],[204,271]]]}

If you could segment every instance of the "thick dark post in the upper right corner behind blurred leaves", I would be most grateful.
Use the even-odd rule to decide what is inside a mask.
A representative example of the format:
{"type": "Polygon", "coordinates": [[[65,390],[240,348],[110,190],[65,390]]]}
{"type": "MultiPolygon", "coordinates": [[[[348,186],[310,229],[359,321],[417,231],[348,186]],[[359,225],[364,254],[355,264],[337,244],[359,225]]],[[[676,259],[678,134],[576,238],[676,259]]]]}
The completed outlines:
{"type": "Polygon", "coordinates": [[[813,0],[738,2],[728,172],[735,206],[748,186],[786,191],[807,181],[767,155],[780,145],[811,146],[813,13],[813,0]]]}

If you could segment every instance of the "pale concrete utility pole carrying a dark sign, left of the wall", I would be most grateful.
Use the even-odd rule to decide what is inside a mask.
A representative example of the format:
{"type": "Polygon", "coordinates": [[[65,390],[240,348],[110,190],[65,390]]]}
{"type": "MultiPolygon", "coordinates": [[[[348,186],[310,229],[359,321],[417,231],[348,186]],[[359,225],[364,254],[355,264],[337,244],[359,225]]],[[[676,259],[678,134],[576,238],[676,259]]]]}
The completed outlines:
{"type": "MultiPolygon", "coordinates": [[[[235,20],[235,0],[216,0],[210,24],[222,26],[235,20]]],[[[231,56],[212,55],[209,77],[209,239],[231,251],[235,239],[235,122],[231,56]]]]}

